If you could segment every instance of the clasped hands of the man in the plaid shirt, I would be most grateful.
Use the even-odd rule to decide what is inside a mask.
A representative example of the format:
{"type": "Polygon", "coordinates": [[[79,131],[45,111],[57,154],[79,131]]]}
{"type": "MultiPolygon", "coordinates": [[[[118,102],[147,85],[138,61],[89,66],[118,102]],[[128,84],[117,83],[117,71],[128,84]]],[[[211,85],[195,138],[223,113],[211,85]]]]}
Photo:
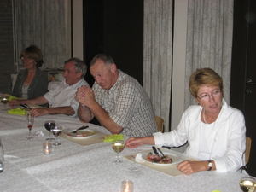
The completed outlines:
{"type": "Polygon", "coordinates": [[[95,102],[93,90],[85,85],[78,89],[75,98],[79,101],[80,104],[85,106],[90,106],[92,102],[95,102]]]}

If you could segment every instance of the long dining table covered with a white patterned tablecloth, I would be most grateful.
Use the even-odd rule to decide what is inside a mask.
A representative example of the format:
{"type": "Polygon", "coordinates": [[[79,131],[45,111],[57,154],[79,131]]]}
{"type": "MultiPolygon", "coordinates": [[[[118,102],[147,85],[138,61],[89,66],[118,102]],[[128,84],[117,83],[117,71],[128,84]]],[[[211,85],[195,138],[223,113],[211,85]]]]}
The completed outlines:
{"type": "MultiPolygon", "coordinates": [[[[150,151],[151,145],[125,148],[120,153],[123,162],[115,164],[116,153],[111,142],[104,141],[111,136],[107,129],[64,114],[34,118],[32,136],[35,139],[27,140],[25,115],[10,114],[2,109],[3,103],[0,104],[0,139],[4,169],[0,173],[0,191],[119,192],[124,180],[133,182],[134,192],[241,191],[239,181],[245,176],[241,172],[205,171],[185,175],[177,170],[174,163],[166,166],[138,162],[135,159],[137,154],[150,151]],[[45,155],[43,143],[49,137],[49,131],[44,128],[46,120],[55,120],[66,131],[88,125],[88,129],[99,135],[72,140],[62,132],[58,138],[61,145],[53,146],[52,153],[45,155]]],[[[169,149],[165,148],[165,153],[166,150],[169,149]]]]}

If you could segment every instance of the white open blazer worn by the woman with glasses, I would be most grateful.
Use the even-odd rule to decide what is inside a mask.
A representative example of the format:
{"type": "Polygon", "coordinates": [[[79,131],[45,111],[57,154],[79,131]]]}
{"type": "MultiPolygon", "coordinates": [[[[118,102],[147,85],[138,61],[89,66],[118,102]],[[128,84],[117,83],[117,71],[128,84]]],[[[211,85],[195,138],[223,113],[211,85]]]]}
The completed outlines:
{"type": "MultiPolygon", "coordinates": [[[[179,147],[188,141],[188,148],[184,154],[198,158],[200,149],[201,110],[199,105],[190,106],[171,132],[154,133],[157,146],[179,147]]],[[[236,172],[245,165],[244,152],[246,149],[246,127],[244,116],[236,108],[227,105],[223,99],[223,106],[216,119],[210,138],[213,139],[211,159],[214,160],[217,172],[236,172]]]]}

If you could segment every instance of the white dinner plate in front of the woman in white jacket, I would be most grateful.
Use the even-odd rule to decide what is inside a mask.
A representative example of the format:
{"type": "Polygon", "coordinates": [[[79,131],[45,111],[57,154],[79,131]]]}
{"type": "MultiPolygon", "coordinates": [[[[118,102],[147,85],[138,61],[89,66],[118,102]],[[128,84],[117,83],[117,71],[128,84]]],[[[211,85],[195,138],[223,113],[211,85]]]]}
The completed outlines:
{"type": "MultiPolygon", "coordinates": [[[[168,155],[169,157],[171,157],[172,158],[172,163],[159,163],[159,162],[154,162],[154,161],[151,161],[151,160],[148,160],[147,159],[147,155],[148,155],[148,153],[152,153],[152,154],[154,154],[154,151],[147,151],[147,152],[144,152],[143,154],[142,154],[142,157],[143,157],[143,159],[144,160],[146,160],[147,162],[149,162],[149,163],[152,163],[152,164],[155,164],[155,165],[160,165],[160,166],[170,166],[170,165],[173,165],[173,164],[177,164],[177,163],[179,163],[179,162],[181,162],[181,161],[183,161],[183,154],[179,154],[179,153],[177,153],[176,151],[168,151],[168,152],[166,152],[166,151],[164,151],[164,150],[162,150],[162,152],[165,154],[165,155],[168,155]]],[[[161,156],[161,154],[160,154],[160,156],[161,156]]]]}

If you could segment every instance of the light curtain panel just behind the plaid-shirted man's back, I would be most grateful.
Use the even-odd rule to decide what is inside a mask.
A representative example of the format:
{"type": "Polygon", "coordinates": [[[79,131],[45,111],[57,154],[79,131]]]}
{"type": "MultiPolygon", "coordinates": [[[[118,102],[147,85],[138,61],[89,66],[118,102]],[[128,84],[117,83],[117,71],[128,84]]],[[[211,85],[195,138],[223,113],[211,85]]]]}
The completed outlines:
{"type": "Polygon", "coordinates": [[[172,84],[172,0],[144,1],[143,87],[169,131],[172,84]]]}

